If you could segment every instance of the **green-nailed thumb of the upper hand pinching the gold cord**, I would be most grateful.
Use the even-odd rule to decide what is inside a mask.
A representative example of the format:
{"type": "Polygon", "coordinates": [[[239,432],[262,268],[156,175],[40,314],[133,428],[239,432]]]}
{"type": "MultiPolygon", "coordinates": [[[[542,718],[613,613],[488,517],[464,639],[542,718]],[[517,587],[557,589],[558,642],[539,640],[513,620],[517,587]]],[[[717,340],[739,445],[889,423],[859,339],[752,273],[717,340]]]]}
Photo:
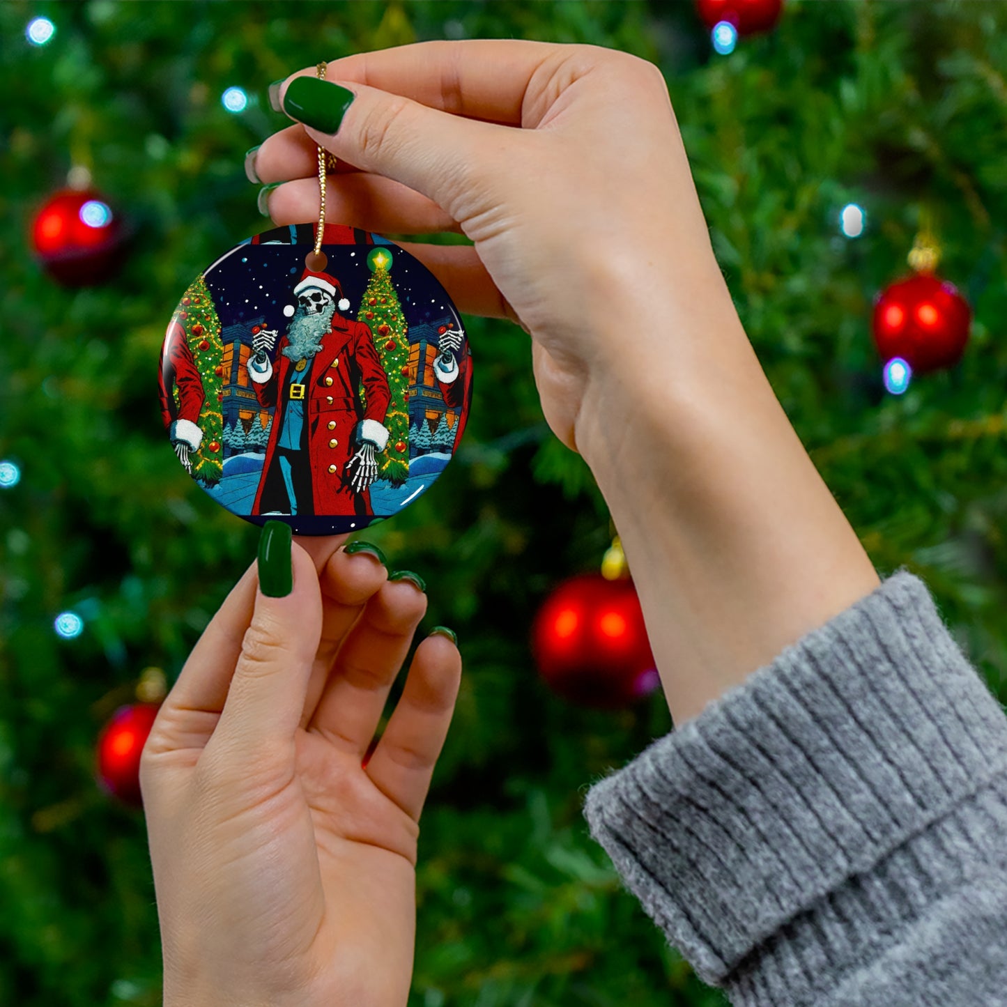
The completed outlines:
{"type": "Polygon", "coordinates": [[[306,75],[281,90],[279,103],[336,157],[402,182],[448,212],[459,194],[471,197],[473,175],[487,167],[486,152],[498,149],[505,128],[355,81],[343,86],[306,75]]]}

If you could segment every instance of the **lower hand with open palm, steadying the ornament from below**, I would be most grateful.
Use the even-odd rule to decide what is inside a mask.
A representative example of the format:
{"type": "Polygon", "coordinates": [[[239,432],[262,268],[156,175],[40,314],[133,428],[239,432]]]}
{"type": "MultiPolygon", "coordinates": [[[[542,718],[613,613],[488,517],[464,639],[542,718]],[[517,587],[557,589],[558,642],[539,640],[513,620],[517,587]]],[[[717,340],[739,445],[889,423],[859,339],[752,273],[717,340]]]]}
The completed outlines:
{"type": "Polygon", "coordinates": [[[293,589],[263,594],[253,564],[143,752],[165,1007],[402,1007],[418,822],[460,658],[439,633],[419,645],[362,765],[426,595],[374,556],[312,543],[312,562],[265,535],[265,562],[292,549],[293,589]]]}

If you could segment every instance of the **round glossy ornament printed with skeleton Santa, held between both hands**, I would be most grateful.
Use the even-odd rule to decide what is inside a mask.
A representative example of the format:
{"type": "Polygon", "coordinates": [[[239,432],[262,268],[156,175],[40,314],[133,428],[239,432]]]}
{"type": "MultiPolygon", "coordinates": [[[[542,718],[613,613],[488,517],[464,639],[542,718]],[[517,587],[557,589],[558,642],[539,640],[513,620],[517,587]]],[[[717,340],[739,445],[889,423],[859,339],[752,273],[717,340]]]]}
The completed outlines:
{"type": "Polygon", "coordinates": [[[196,483],[233,514],[297,535],[358,531],[429,489],[472,384],[458,312],[418,259],[325,225],[308,268],[316,234],[256,235],[196,277],[159,376],[168,440],[196,483]],[[381,337],[386,326],[401,338],[381,337]]]}

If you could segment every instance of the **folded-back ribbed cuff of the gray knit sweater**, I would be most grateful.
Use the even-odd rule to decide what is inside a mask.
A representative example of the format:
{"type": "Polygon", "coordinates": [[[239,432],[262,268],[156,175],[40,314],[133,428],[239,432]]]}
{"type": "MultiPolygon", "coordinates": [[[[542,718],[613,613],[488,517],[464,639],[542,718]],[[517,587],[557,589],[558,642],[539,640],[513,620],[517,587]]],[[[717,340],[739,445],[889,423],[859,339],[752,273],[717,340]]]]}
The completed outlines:
{"type": "Polygon", "coordinates": [[[698,975],[751,985],[798,929],[795,974],[838,965],[859,919],[908,904],[920,857],[960,875],[975,850],[956,809],[985,792],[1000,816],[1005,773],[1003,710],[900,569],[596,783],[585,815],[698,975]]]}

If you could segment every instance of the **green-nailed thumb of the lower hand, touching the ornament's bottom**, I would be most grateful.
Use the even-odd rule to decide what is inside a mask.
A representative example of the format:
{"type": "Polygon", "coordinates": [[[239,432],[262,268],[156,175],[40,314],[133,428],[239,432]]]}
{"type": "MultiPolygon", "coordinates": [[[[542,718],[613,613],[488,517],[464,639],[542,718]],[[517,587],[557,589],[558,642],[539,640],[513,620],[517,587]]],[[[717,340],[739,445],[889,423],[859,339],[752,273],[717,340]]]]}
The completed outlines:
{"type": "Polygon", "coordinates": [[[252,623],[207,745],[249,755],[293,740],[321,636],[318,575],[284,522],[263,528],[258,573],[252,623]]]}

